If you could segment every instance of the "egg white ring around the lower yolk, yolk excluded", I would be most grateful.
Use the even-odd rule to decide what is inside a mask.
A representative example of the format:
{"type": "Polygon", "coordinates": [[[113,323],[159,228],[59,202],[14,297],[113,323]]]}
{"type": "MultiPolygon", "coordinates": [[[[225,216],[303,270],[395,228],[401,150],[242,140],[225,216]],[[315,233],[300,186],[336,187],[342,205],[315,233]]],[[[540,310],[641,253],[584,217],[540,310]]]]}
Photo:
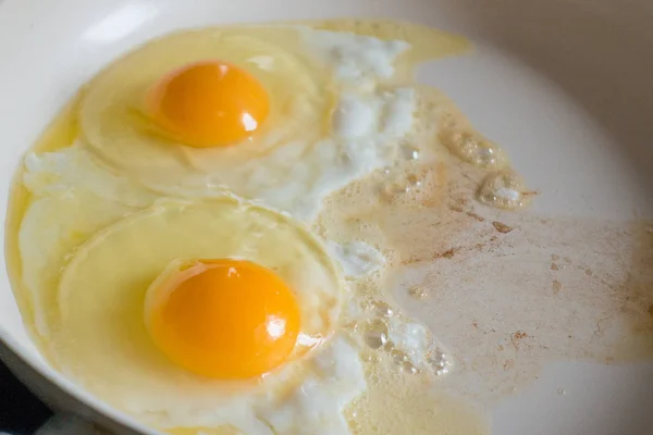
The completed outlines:
{"type": "MultiPolygon", "coordinates": [[[[268,433],[234,417],[239,414],[275,430],[276,424],[280,430],[320,427],[330,420],[318,421],[305,402],[324,405],[324,415],[340,415],[364,382],[357,376],[360,369],[332,382],[342,364],[360,364],[353,341],[332,339],[318,349],[322,357],[303,355],[331,338],[343,306],[343,283],[320,246],[287,217],[237,199],[157,202],[97,233],[69,261],[59,284],[60,324],[52,337],[58,362],[90,391],[159,427],[231,425],[268,433]],[[153,347],[139,315],[145,290],[180,257],[244,258],[274,270],[295,291],[300,337],[281,373],[260,383],[210,381],[175,366],[153,347]],[[313,394],[305,393],[309,387],[313,394]],[[288,400],[288,395],[296,398],[288,400]],[[284,413],[291,417],[284,420],[284,413]]],[[[331,424],[317,433],[342,428],[332,431],[331,424]]]]}

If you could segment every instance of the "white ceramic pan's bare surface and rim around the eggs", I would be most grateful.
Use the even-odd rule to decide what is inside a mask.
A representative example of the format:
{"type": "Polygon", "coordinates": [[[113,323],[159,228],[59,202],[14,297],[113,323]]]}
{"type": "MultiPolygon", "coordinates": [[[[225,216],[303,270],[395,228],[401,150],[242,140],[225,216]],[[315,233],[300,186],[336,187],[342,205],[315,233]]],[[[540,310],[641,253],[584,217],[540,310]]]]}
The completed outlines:
{"type": "MultiPolygon", "coordinates": [[[[515,232],[521,243],[507,251],[501,272],[458,264],[485,276],[496,297],[488,304],[463,293],[466,309],[442,319],[466,325],[468,337],[488,335],[479,343],[494,349],[493,319],[509,323],[519,306],[506,288],[564,295],[557,304],[531,306],[530,318],[540,323],[514,325],[509,337],[515,349],[528,349],[527,362],[519,353],[488,360],[501,364],[496,387],[505,390],[483,403],[492,433],[652,434],[653,325],[641,313],[653,313],[653,304],[639,306],[653,303],[653,281],[645,274],[653,269],[653,229],[645,221],[653,217],[648,0],[0,0],[0,203],[8,202],[12,174],[45,125],[84,82],[132,47],[217,23],[340,16],[408,20],[470,38],[473,54],[439,62],[420,78],[443,89],[502,144],[540,192],[527,212],[541,217],[540,226],[521,236],[515,232]],[[606,235],[615,227],[621,229],[606,235]],[[638,278],[643,281],[636,289],[638,278]],[[575,294],[584,299],[575,300],[575,294]],[[560,322],[568,322],[569,345],[560,345],[560,337],[546,341],[547,328],[560,322]],[[574,340],[577,333],[584,338],[574,340]],[[611,334],[614,339],[602,341],[611,334]],[[532,339],[520,344],[523,336],[532,339]],[[624,344],[623,352],[601,353],[592,340],[624,344]],[[547,353],[554,345],[562,350],[547,353]]],[[[455,270],[449,278],[456,279],[455,270]]],[[[151,432],[46,363],[25,332],[4,269],[0,356],[58,410],[114,433],[151,432]]]]}

